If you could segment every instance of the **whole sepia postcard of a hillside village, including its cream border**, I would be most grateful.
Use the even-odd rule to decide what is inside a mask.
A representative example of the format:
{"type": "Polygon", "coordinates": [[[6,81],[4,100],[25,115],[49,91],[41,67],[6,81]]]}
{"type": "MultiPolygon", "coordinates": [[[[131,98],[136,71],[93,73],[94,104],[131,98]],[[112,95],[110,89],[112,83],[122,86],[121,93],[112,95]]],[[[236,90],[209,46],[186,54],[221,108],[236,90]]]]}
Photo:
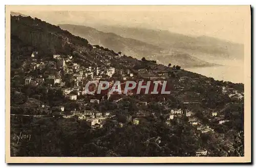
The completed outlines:
{"type": "Polygon", "coordinates": [[[6,6],[7,163],[251,162],[250,6],[6,6]]]}

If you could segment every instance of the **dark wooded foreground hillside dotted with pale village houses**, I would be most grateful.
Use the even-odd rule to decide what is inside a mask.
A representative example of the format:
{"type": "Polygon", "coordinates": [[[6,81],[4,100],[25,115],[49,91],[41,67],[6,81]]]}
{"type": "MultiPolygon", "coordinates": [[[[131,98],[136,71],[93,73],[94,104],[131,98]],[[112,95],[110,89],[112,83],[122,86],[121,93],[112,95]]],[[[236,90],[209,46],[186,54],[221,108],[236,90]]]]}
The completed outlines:
{"type": "MultiPolygon", "coordinates": [[[[40,19],[12,16],[11,24],[11,134],[20,131],[20,124],[30,129],[36,136],[31,148],[40,136],[56,140],[53,134],[59,130],[61,137],[73,132],[70,136],[80,140],[74,146],[51,147],[43,142],[45,149],[36,155],[68,156],[60,146],[73,151],[80,144],[83,148],[73,151],[75,156],[243,156],[241,83],[216,81],[171,63],[136,60],[121,51],[84,43],[85,39],[40,19]],[[15,26],[33,27],[35,36],[26,39],[15,26]],[[52,47],[50,41],[40,46],[44,33],[60,45],[53,44],[51,51],[46,49],[52,47]],[[116,80],[166,80],[170,94],[88,95],[85,85],[91,80],[110,85],[116,80]],[[44,128],[46,123],[55,125],[44,128]],[[35,133],[37,128],[45,131],[35,133]],[[141,153],[144,148],[151,150],[141,153]]],[[[35,146],[34,151],[39,145],[35,146]]],[[[13,146],[13,155],[26,153],[17,148],[13,146]]]]}

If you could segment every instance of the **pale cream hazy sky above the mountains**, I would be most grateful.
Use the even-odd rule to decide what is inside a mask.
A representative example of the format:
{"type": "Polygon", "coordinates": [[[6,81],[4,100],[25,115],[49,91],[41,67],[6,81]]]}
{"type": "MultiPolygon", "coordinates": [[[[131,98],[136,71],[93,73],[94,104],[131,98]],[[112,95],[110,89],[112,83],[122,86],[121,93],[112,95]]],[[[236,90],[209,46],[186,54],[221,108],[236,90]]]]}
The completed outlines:
{"type": "Polygon", "coordinates": [[[81,6],[45,10],[17,12],[52,24],[137,26],[244,43],[245,6],[81,6]]]}

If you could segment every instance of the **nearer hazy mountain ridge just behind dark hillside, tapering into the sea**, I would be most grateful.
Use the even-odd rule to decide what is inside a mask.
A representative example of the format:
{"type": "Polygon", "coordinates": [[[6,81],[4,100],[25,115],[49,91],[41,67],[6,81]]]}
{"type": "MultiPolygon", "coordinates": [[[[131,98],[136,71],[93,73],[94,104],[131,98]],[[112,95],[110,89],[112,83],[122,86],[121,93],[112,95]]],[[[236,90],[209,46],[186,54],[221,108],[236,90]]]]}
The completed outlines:
{"type": "Polygon", "coordinates": [[[114,33],[105,33],[89,26],[58,24],[58,26],[69,31],[75,36],[87,39],[90,44],[102,45],[116,52],[131,55],[134,58],[141,59],[145,57],[148,60],[156,60],[161,64],[171,63],[182,67],[214,66],[206,61],[192,57],[186,52],[178,50],[166,50],[164,46],[147,43],[133,38],[124,38],[114,33]]]}

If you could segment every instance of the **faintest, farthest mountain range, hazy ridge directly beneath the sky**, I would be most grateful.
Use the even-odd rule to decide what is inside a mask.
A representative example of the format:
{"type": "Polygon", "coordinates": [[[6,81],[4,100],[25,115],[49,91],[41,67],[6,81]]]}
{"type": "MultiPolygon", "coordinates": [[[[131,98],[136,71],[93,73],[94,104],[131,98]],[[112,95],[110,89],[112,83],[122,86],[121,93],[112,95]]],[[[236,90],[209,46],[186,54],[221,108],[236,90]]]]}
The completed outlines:
{"type": "Polygon", "coordinates": [[[190,37],[161,30],[148,30],[135,27],[101,25],[96,29],[103,32],[133,38],[168,50],[184,51],[189,54],[211,54],[220,59],[243,59],[244,45],[217,38],[200,36],[190,37]]]}

